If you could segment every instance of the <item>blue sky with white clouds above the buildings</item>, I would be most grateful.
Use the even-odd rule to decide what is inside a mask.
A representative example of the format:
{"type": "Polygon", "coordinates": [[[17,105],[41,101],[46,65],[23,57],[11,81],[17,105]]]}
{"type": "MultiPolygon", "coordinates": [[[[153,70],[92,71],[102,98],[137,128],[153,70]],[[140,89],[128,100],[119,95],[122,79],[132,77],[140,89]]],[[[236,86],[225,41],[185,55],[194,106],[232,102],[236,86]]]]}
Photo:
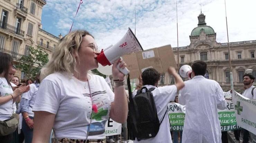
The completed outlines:
{"type": "MultiPolygon", "coordinates": [[[[44,30],[66,35],[80,0],[47,0],[43,7],[44,30]]],[[[256,0],[226,0],[229,42],[256,40],[256,0]]],[[[128,28],[144,50],[171,44],[190,44],[189,35],[198,24],[202,9],[205,22],[217,33],[219,43],[227,42],[224,0],[83,0],[72,30],[89,31],[100,48],[118,42],[128,28]],[[202,5],[202,6],[200,6],[202,5]],[[136,14],[135,14],[136,10],[136,14]],[[136,15],[136,20],[135,20],[136,15]],[[136,21],[136,22],[135,22],[136,21]]]]}

